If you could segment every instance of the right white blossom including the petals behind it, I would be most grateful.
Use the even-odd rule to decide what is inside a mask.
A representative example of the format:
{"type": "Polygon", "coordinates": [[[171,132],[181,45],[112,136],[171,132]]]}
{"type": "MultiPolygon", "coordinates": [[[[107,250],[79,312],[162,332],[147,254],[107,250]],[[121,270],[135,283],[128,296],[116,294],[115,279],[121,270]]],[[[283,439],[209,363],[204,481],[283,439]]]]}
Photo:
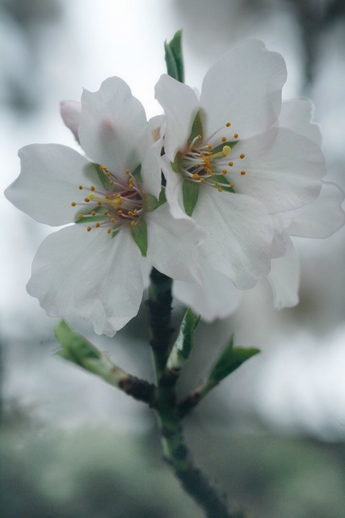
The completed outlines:
{"type": "Polygon", "coordinates": [[[167,75],[156,85],[166,115],[166,198],[176,218],[189,215],[207,232],[199,247],[204,295],[177,282],[175,296],[206,320],[238,305],[233,285],[248,289],[260,278],[270,280],[275,307],[295,305],[299,260],[289,236],[323,237],[344,224],[341,191],[322,183],[310,104],[297,99],[281,113],[285,81],[282,56],[247,41],[208,70],[199,99],[167,75]]]}

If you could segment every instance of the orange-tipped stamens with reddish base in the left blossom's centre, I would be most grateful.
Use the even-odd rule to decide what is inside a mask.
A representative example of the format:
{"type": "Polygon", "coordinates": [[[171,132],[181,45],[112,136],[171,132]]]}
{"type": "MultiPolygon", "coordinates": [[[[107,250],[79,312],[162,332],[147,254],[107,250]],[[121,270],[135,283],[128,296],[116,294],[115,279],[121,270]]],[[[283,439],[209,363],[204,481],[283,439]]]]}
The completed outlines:
{"type": "Polygon", "coordinates": [[[86,189],[90,192],[83,202],[72,202],[72,207],[95,204],[95,208],[89,213],[80,213],[77,222],[87,222],[88,232],[94,228],[103,228],[107,229],[109,234],[117,233],[126,224],[135,227],[141,219],[144,205],[135,176],[126,169],[128,180],[124,180],[110,173],[106,166],[99,166],[99,169],[108,178],[109,187],[99,189],[94,185],[79,185],[80,191],[86,189]]]}

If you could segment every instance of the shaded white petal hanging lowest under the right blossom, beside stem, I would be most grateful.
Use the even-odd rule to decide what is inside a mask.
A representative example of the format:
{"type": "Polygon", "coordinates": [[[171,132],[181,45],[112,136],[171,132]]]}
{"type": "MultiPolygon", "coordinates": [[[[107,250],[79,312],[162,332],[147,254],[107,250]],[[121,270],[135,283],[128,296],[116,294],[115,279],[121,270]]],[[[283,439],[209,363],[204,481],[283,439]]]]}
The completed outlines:
{"type": "Polygon", "coordinates": [[[231,280],[201,261],[202,285],[175,280],[172,293],[176,300],[201,315],[205,322],[225,318],[239,307],[242,291],[231,280]]]}

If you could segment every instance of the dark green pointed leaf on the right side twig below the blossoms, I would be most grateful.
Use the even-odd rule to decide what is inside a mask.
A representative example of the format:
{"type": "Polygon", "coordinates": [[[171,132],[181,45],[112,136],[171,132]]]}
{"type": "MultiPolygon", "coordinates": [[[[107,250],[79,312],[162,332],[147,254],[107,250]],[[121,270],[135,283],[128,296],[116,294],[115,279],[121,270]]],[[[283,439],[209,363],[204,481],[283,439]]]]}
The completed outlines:
{"type": "Polygon", "coordinates": [[[208,383],[216,385],[222,379],[226,378],[229,374],[238,369],[245,361],[255,356],[260,352],[260,349],[244,347],[233,347],[234,335],[230,337],[230,340],[219,355],[215,365],[213,365],[208,376],[208,383]]]}

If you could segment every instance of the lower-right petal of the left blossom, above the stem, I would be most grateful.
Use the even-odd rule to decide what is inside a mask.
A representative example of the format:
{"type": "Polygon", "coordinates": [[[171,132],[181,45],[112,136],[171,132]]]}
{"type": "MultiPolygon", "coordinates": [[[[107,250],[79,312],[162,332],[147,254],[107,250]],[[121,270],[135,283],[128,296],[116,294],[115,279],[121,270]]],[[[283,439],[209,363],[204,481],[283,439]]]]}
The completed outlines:
{"type": "Polygon", "coordinates": [[[197,245],[204,238],[190,218],[172,217],[167,203],[146,214],[148,260],[167,276],[186,282],[201,282],[197,245]]]}

